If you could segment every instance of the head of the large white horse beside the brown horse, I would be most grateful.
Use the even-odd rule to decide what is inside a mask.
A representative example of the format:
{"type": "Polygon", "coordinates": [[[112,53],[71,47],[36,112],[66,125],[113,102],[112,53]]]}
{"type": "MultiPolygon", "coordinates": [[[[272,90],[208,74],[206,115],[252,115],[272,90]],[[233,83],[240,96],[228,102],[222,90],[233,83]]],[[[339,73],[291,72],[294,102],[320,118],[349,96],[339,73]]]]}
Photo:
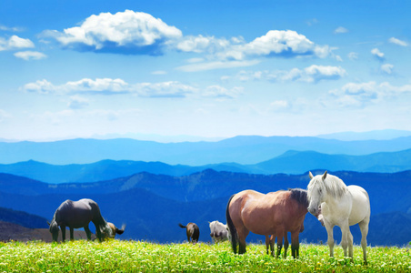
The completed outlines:
{"type": "Polygon", "coordinates": [[[326,180],[326,172],[323,175],[313,176],[309,172],[310,183],[307,186],[307,197],[308,197],[308,211],[318,217],[320,214],[321,203],[325,201],[326,187],[324,181],[326,180]]]}

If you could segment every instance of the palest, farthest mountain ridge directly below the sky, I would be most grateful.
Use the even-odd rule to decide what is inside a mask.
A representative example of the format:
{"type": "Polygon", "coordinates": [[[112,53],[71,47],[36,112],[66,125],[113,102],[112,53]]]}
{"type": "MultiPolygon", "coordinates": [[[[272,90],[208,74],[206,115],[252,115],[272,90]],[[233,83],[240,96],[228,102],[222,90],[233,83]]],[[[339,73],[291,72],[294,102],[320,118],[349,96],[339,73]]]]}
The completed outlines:
{"type": "Polygon", "coordinates": [[[289,150],[361,156],[411,148],[411,136],[389,140],[341,141],[312,136],[236,136],[216,142],[157,143],[134,139],[72,139],[55,142],[0,142],[0,163],[35,160],[55,165],[105,159],[205,166],[224,162],[253,165],[289,150]]]}

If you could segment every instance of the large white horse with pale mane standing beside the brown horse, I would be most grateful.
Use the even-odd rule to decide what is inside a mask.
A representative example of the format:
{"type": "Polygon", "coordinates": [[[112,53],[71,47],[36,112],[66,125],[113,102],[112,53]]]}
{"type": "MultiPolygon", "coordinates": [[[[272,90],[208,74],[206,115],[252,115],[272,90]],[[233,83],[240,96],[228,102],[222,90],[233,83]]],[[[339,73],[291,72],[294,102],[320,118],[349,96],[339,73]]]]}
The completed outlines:
{"type": "Polygon", "coordinates": [[[309,173],[310,183],[308,184],[308,211],[324,222],[326,233],[328,234],[328,247],[330,257],[334,257],[334,237],[333,227],[341,228],[341,246],[346,257],[353,259],[353,235],[349,226],[358,224],[361,229],[361,247],[366,264],[366,235],[368,234],[368,224],[370,219],[370,204],[366,190],[359,186],[346,186],[343,180],[338,177],[318,175],[316,177],[309,173]]]}

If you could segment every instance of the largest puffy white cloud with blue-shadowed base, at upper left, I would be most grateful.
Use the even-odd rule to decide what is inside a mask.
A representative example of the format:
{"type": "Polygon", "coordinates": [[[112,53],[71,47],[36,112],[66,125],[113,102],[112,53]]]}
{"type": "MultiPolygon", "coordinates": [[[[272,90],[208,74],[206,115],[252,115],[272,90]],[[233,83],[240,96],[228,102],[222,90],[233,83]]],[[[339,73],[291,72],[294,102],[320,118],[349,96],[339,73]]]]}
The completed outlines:
{"type": "Polygon", "coordinates": [[[79,26],[64,32],[46,31],[44,35],[79,51],[161,55],[182,32],[152,15],[125,10],[114,15],[91,15],[79,26]]]}

